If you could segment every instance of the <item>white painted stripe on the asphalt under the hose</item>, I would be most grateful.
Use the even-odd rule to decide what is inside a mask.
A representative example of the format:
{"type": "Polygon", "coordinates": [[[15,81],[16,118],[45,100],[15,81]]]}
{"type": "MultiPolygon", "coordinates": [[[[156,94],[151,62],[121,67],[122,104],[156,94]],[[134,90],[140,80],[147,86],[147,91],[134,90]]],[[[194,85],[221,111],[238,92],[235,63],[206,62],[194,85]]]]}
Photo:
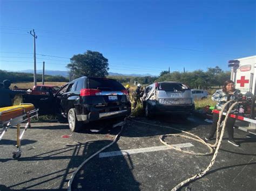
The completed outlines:
{"type": "MultiPolygon", "coordinates": [[[[194,145],[192,145],[191,143],[182,143],[182,144],[176,144],[172,146],[175,146],[178,148],[185,148],[185,147],[192,147],[194,145]]],[[[164,151],[169,149],[171,149],[170,146],[152,146],[152,147],[135,148],[135,149],[123,150],[123,151],[103,152],[103,153],[99,153],[99,158],[115,157],[118,155],[136,154],[136,153],[153,152],[153,151],[164,151]]]]}

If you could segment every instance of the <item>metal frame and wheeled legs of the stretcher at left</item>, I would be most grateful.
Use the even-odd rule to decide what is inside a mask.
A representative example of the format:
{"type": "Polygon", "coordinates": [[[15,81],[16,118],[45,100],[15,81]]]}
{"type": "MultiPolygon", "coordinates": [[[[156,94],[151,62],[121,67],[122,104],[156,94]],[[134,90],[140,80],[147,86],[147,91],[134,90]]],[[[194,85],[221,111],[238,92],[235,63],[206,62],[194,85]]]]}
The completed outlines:
{"type": "MultiPolygon", "coordinates": [[[[1,127],[3,128],[2,132],[1,132],[1,135],[0,135],[0,141],[2,140],[2,138],[5,134],[5,132],[8,130],[8,128],[12,128],[14,126],[17,126],[17,145],[16,145],[17,151],[12,152],[12,154],[13,154],[12,158],[14,158],[14,159],[17,159],[17,158],[21,157],[21,152],[22,152],[22,150],[21,150],[21,140],[22,140],[22,137],[23,137],[26,129],[31,127],[31,118],[36,117],[38,119],[38,110],[39,109],[33,109],[31,111],[26,112],[25,108],[22,107],[22,105],[29,105],[29,104],[22,103],[22,104],[19,105],[20,107],[4,111],[4,112],[10,112],[12,110],[17,110],[19,108],[22,108],[23,109],[23,114],[21,116],[11,118],[7,121],[0,121],[0,128],[1,127]],[[21,123],[24,123],[24,122],[26,122],[26,125],[25,125],[25,128],[23,129],[23,131],[21,133],[21,123]]],[[[1,114],[1,112],[0,112],[0,114],[1,114]]]]}

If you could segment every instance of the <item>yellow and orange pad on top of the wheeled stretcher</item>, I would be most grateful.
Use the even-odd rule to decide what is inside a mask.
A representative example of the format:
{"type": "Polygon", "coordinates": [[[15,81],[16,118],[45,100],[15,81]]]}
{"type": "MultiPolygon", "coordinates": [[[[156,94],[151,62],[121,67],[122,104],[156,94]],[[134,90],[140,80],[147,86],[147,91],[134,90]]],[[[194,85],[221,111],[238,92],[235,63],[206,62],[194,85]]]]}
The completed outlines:
{"type": "Polygon", "coordinates": [[[10,107],[0,108],[0,121],[9,121],[18,116],[22,116],[26,112],[34,110],[33,104],[21,104],[10,107]]]}

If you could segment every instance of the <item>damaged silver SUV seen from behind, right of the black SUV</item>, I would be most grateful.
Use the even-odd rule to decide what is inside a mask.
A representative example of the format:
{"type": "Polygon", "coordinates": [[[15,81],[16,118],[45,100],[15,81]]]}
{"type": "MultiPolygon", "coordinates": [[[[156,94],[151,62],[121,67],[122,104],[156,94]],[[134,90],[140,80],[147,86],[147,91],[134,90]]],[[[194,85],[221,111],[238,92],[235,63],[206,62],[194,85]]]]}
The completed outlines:
{"type": "Polygon", "coordinates": [[[146,117],[163,113],[187,117],[194,110],[191,90],[180,82],[157,82],[147,86],[142,102],[146,117]]]}

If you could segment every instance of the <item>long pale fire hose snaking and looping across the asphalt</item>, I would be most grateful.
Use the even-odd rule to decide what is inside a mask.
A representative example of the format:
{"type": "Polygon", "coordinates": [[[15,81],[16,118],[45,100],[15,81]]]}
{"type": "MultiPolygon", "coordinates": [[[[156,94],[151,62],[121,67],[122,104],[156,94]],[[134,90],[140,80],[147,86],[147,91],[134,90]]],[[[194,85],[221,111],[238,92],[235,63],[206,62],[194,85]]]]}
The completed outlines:
{"type": "MultiPolygon", "coordinates": [[[[177,134],[167,134],[167,135],[161,135],[159,137],[160,139],[160,142],[163,143],[164,145],[167,145],[167,146],[170,146],[172,149],[176,150],[176,151],[180,151],[180,152],[183,152],[183,153],[187,153],[187,154],[193,154],[193,155],[210,155],[213,153],[213,148],[215,148],[215,152],[213,153],[213,158],[211,159],[210,161],[210,164],[206,167],[206,169],[203,171],[203,172],[200,172],[198,174],[195,174],[193,176],[191,176],[190,178],[180,182],[178,185],[176,185],[175,187],[172,188],[172,191],[176,191],[178,190],[179,188],[183,187],[184,185],[186,185],[188,182],[191,182],[193,180],[196,180],[196,179],[199,179],[201,178],[202,176],[204,176],[208,171],[210,171],[211,167],[213,166],[214,162],[215,162],[215,159],[218,155],[218,151],[219,151],[219,148],[220,148],[220,145],[221,145],[221,141],[223,140],[223,135],[224,135],[224,130],[225,130],[225,126],[226,126],[226,122],[227,122],[227,119],[228,119],[228,116],[230,115],[230,112],[232,111],[232,109],[235,107],[235,105],[237,105],[238,103],[241,103],[241,102],[234,102],[231,107],[228,109],[227,111],[227,114],[226,114],[226,117],[224,119],[224,122],[223,122],[223,128],[221,129],[220,131],[220,126],[221,126],[221,117],[223,115],[223,112],[225,110],[225,108],[231,103],[231,102],[234,102],[234,100],[231,100],[231,101],[228,101],[224,104],[223,106],[223,109],[219,112],[219,120],[218,120],[218,123],[217,123],[217,136],[216,136],[216,141],[214,144],[209,144],[209,143],[206,143],[204,141],[204,139],[201,139],[200,137],[194,135],[193,133],[190,133],[190,132],[187,132],[187,131],[183,131],[183,130],[180,130],[180,129],[176,129],[176,128],[171,128],[170,126],[164,126],[164,125],[157,125],[157,124],[152,124],[152,123],[146,123],[146,122],[139,122],[139,121],[136,121],[134,119],[131,119],[130,116],[126,117],[125,118],[125,121],[127,119],[129,119],[130,121],[133,121],[133,122],[137,122],[137,123],[142,123],[142,124],[147,124],[147,125],[154,125],[154,126],[160,126],[160,127],[163,127],[163,128],[168,128],[168,129],[172,129],[172,130],[176,130],[176,131],[180,131],[180,132],[183,132],[183,133],[186,133],[187,135],[190,135],[190,136],[185,136],[185,135],[177,135],[177,134]],[[175,136],[175,137],[184,137],[184,138],[187,138],[187,139],[192,139],[192,140],[195,140],[197,142],[200,142],[204,145],[206,145],[208,147],[208,149],[210,150],[209,152],[207,153],[196,153],[196,152],[193,152],[193,151],[185,151],[185,150],[182,150],[181,148],[178,148],[178,147],[175,147],[175,146],[172,146],[170,144],[167,144],[165,141],[164,141],[164,138],[167,137],[167,136],[175,136]]],[[[102,152],[103,150],[105,150],[106,148],[110,147],[112,144],[116,143],[119,136],[120,136],[120,133],[123,131],[123,127],[124,125],[122,125],[122,128],[121,130],[119,131],[119,133],[116,135],[116,137],[113,139],[113,142],[111,142],[109,145],[106,145],[105,147],[101,148],[99,151],[97,151],[95,154],[91,155],[89,158],[87,158],[82,164],[79,165],[79,167],[76,169],[75,172],[73,172],[73,174],[71,175],[71,178],[68,182],[68,190],[71,190],[71,186],[72,186],[72,182],[73,182],[73,179],[75,178],[76,174],[78,173],[78,171],[80,170],[80,168],[82,168],[87,161],[89,161],[90,159],[92,159],[93,157],[95,157],[97,154],[99,154],[100,152],[102,152]]]]}

